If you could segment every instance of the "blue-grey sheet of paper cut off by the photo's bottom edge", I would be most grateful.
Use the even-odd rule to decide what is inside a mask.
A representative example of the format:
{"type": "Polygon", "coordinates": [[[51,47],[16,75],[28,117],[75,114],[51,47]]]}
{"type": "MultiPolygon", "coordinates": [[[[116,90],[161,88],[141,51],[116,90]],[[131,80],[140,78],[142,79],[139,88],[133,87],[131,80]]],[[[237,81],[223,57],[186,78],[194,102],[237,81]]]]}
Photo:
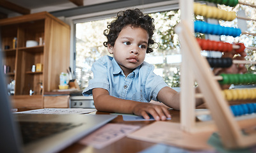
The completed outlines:
{"type": "Polygon", "coordinates": [[[179,147],[173,147],[172,145],[156,144],[148,149],[142,150],[139,153],[173,153],[173,152],[182,152],[182,153],[216,153],[214,150],[186,150],[179,147]]]}

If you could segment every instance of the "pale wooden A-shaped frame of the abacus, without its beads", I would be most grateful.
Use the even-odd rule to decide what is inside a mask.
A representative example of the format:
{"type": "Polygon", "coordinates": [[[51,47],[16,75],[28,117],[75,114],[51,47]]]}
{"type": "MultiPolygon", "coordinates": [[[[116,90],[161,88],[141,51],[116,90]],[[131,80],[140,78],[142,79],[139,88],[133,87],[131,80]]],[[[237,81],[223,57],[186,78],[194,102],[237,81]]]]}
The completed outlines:
{"type": "Polygon", "coordinates": [[[207,60],[200,54],[201,48],[193,36],[193,0],[180,0],[180,24],[175,27],[181,44],[181,92],[180,124],[181,129],[189,133],[215,131],[220,133],[221,140],[229,149],[250,147],[256,144],[256,133],[243,135],[241,128],[256,125],[256,118],[237,121],[232,114],[228,101],[221,94],[220,85],[207,60]],[[198,83],[201,95],[211,112],[213,122],[195,121],[195,87],[198,83]]]}

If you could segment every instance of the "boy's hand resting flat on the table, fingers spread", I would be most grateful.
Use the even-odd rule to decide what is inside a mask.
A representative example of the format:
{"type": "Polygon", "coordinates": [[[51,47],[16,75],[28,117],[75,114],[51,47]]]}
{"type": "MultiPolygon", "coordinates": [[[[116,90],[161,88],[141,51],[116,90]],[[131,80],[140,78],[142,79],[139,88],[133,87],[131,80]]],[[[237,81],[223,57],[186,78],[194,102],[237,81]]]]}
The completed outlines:
{"type": "Polygon", "coordinates": [[[168,108],[165,106],[142,102],[134,107],[133,113],[135,115],[143,116],[144,119],[150,119],[148,113],[150,113],[155,120],[166,120],[171,117],[168,108]]]}

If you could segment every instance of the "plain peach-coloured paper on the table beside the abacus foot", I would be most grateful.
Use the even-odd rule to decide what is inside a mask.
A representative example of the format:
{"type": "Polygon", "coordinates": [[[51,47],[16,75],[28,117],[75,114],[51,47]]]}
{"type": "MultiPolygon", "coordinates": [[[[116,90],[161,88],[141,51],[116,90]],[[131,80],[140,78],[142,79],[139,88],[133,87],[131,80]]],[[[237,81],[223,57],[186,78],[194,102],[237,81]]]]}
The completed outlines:
{"type": "Polygon", "coordinates": [[[153,143],[164,143],[185,149],[212,149],[207,144],[212,132],[189,134],[180,129],[180,124],[167,121],[156,121],[134,133],[129,138],[153,143]]]}

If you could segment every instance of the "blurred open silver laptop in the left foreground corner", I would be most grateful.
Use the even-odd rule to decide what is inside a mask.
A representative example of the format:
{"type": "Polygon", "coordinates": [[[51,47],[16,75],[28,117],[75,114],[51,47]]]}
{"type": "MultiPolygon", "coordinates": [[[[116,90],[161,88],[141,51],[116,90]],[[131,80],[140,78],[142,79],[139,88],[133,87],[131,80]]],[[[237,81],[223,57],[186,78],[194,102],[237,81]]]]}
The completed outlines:
{"type": "MultiPolygon", "coordinates": [[[[59,152],[68,145],[92,133],[117,115],[83,114],[25,114],[12,113],[3,73],[0,51],[0,152],[59,152]],[[39,126],[44,128],[40,129],[39,126]],[[23,129],[26,126],[36,128],[23,129]],[[62,128],[67,126],[67,128],[62,128]],[[52,133],[48,129],[54,129],[52,133]],[[36,132],[31,135],[31,132],[36,132]],[[44,135],[43,135],[44,131],[44,135]],[[38,136],[34,138],[35,136],[38,136]]],[[[28,128],[28,127],[26,127],[28,128]]]]}

